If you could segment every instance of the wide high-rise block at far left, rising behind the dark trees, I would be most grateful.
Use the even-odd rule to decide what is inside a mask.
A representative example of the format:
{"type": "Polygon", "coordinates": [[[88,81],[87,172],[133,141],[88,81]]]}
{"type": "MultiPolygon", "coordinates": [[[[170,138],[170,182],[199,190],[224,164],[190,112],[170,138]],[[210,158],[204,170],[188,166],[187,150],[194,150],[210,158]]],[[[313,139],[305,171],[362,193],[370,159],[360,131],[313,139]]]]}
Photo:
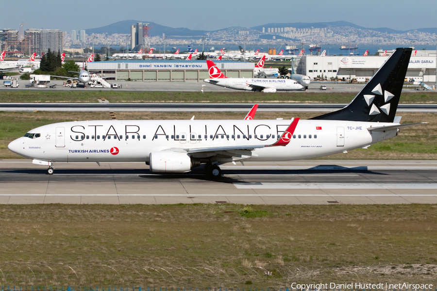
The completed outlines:
{"type": "Polygon", "coordinates": [[[21,43],[21,51],[32,54],[47,52],[61,52],[63,47],[63,33],[60,30],[29,29],[24,32],[24,39],[21,43]]]}

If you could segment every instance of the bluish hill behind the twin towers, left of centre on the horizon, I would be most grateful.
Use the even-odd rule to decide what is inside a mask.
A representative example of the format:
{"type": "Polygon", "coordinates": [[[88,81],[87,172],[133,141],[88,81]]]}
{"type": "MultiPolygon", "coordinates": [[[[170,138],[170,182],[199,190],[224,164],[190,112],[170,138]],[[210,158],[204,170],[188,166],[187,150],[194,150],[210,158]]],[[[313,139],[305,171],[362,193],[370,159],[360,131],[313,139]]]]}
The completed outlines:
{"type": "Polygon", "coordinates": [[[151,27],[150,36],[162,36],[163,33],[165,33],[168,36],[173,36],[173,35],[198,36],[198,35],[204,35],[207,32],[207,31],[190,30],[187,28],[172,28],[164,25],[159,25],[151,21],[123,20],[110,25],[87,29],[86,33],[87,34],[91,34],[91,33],[129,34],[131,33],[131,25],[132,24],[136,25],[137,22],[149,23],[149,26],[151,27]]]}

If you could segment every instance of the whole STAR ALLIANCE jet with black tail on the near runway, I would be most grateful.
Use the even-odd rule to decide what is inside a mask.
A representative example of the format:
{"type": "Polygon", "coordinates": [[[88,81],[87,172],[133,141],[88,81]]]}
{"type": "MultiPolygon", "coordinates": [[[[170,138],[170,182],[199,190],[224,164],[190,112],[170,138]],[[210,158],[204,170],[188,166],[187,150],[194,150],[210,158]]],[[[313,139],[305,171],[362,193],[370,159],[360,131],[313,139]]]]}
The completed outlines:
{"type": "Polygon", "coordinates": [[[311,159],[367,147],[416,124],[395,118],[412,49],[396,49],[366,86],[336,112],[309,120],[95,120],[49,124],[8,148],[35,164],[145,162],[151,172],[182,173],[205,164],[311,159]]]}

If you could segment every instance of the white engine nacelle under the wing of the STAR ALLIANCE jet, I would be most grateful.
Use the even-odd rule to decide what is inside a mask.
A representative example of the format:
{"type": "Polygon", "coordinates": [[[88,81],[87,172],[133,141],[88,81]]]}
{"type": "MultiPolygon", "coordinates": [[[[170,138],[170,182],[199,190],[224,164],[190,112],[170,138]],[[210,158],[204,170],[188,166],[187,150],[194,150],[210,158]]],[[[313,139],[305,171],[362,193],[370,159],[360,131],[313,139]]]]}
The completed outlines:
{"type": "Polygon", "coordinates": [[[186,153],[164,150],[149,155],[150,170],[156,173],[184,173],[191,170],[190,157],[186,153]]]}

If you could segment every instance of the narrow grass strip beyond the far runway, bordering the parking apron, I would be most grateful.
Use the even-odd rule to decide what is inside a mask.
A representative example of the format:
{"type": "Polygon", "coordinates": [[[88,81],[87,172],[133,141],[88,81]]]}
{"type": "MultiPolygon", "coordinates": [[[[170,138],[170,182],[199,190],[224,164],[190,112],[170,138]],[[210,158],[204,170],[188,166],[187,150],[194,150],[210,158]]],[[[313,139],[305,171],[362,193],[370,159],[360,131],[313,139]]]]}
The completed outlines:
{"type": "MultiPolygon", "coordinates": [[[[0,91],[0,103],[5,102],[93,102],[105,97],[116,102],[320,102],[349,103],[355,93],[259,93],[259,92],[136,92],[136,91],[61,91],[61,90],[7,90],[0,91]]],[[[436,103],[436,92],[403,93],[401,103],[436,103]]]]}

